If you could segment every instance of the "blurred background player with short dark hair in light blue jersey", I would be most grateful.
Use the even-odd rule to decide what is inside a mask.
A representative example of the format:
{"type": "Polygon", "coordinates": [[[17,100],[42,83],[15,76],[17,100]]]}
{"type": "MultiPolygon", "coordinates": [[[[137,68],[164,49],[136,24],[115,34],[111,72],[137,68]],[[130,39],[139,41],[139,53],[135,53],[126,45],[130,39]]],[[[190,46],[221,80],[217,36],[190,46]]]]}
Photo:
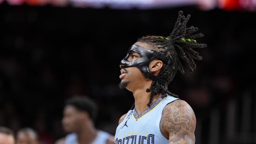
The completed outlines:
{"type": "Polygon", "coordinates": [[[64,107],[63,129],[70,134],[56,144],[114,144],[114,137],[94,126],[96,105],[87,97],[70,98],[64,107]]]}

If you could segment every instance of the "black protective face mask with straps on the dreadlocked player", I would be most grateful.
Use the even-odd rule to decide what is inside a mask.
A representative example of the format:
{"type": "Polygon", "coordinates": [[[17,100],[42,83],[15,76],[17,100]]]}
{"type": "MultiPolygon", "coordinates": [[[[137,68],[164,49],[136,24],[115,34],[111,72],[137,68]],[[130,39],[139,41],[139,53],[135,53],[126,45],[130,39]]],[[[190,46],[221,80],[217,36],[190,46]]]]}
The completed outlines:
{"type": "Polygon", "coordinates": [[[129,67],[129,66],[136,66],[142,72],[142,74],[145,76],[145,78],[156,80],[156,81],[160,82],[162,85],[164,85],[165,87],[167,87],[167,82],[165,80],[150,73],[150,71],[149,71],[149,63],[154,58],[157,58],[157,59],[165,62],[166,64],[172,63],[172,59],[167,58],[164,54],[161,54],[154,50],[145,49],[137,44],[134,44],[129,48],[126,57],[124,57],[124,59],[121,60],[120,67],[123,68],[123,67],[129,67]],[[140,57],[136,60],[128,61],[127,59],[129,57],[129,55],[133,52],[138,53],[140,55],[140,57]]]}

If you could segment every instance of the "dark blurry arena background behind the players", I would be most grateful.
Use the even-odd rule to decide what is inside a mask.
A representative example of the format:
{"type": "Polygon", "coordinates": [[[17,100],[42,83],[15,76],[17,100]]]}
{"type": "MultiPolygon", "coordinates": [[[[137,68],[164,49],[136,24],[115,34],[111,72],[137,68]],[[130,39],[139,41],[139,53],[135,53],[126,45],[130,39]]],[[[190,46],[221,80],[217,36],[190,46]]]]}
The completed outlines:
{"type": "Polygon", "coordinates": [[[247,7],[239,0],[156,7],[0,1],[0,125],[32,127],[51,144],[65,135],[63,102],[79,95],[97,102],[96,127],[114,134],[134,101],[117,86],[120,60],[139,37],[168,36],[183,10],[208,47],[196,49],[203,60],[194,73],[177,73],[169,90],[192,106],[196,143],[256,143],[254,0],[247,7]]]}

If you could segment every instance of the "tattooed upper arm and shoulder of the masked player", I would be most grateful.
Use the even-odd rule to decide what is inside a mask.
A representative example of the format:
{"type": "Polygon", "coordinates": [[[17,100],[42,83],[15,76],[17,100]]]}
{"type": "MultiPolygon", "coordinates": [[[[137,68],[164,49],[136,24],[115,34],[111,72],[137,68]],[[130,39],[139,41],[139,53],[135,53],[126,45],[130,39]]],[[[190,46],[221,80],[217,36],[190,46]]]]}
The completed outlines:
{"type": "Polygon", "coordinates": [[[194,144],[195,128],[196,116],[187,102],[176,100],[165,106],[160,130],[168,144],[194,144]]]}

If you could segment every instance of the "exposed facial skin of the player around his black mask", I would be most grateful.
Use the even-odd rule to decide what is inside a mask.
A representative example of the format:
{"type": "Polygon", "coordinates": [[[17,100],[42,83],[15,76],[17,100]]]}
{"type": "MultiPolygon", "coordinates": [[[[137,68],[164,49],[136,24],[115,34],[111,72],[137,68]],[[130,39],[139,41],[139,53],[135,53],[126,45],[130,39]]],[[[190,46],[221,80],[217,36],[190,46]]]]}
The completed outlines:
{"type": "MultiPolygon", "coordinates": [[[[148,49],[148,44],[136,42],[135,44],[148,49]]],[[[140,57],[139,53],[132,52],[129,54],[127,61],[133,61],[140,57]]],[[[119,76],[121,79],[121,82],[119,84],[119,87],[126,88],[130,91],[132,91],[135,88],[139,88],[140,86],[143,86],[143,83],[141,83],[143,80],[145,80],[145,77],[143,76],[142,72],[135,66],[129,66],[121,69],[121,75],[119,76]]]]}

